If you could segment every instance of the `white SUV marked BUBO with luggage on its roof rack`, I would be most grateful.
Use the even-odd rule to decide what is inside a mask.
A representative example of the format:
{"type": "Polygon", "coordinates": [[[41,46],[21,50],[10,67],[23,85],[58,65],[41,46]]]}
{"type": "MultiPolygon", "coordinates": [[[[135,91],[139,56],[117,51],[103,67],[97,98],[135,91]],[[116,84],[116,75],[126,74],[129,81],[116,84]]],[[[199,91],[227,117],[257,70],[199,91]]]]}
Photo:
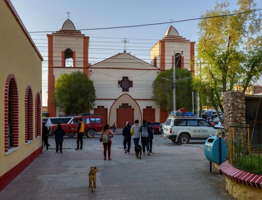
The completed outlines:
{"type": "Polygon", "coordinates": [[[172,142],[187,144],[189,140],[206,140],[217,135],[218,127],[199,117],[181,117],[170,115],[163,126],[163,137],[172,142]]]}

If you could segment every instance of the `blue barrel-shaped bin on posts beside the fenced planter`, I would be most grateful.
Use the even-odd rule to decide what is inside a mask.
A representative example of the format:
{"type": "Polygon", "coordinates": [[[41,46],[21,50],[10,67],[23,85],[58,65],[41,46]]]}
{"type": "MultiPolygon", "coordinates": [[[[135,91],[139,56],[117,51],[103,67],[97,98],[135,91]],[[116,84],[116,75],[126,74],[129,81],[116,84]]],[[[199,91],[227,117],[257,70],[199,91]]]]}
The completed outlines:
{"type": "MultiPolygon", "coordinates": [[[[207,160],[219,163],[219,138],[216,136],[211,136],[207,139],[205,143],[205,156],[207,160]]],[[[227,146],[223,139],[221,139],[221,162],[223,162],[227,155],[227,146]]]]}

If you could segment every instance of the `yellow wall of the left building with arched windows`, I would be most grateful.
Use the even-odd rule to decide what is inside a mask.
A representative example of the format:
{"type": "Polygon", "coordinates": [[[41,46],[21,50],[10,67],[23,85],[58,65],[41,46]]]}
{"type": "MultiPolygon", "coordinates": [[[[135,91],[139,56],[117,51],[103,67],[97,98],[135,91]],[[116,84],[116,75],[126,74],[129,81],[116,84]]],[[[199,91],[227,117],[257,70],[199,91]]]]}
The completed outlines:
{"type": "MultiPolygon", "coordinates": [[[[35,95],[42,88],[42,63],[19,26],[13,13],[4,0],[0,0],[0,177],[16,166],[42,145],[42,138],[33,139],[25,145],[25,91],[30,85],[34,102],[34,133],[35,133],[35,95]],[[4,93],[8,74],[15,75],[18,86],[19,101],[19,139],[18,149],[5,155],[4,151],[4,93]]],[[[40,94],[41,95],[41,94],[40,94]]],[[[41,98],[42,99],[42,98],[41,98]]],[[[41,115],[42,116],[42,115],[41,115]]]]}

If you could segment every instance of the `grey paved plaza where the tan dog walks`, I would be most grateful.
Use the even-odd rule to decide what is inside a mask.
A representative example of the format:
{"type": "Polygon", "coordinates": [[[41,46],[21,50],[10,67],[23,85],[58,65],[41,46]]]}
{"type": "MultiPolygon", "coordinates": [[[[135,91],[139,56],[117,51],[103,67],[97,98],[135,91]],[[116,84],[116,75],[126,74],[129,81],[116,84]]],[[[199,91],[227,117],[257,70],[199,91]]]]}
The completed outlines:
{"type": "Polygon", "coordinates": [[[103,160],[103,146],[96,138],[84,137],[84,149],[76,151],[76,137],[65,137],[64,153],[42,153],[2,192],[12,200],[122,200],[122,199],[233,199],[225,189],[225,177],[209,172],[203,141],[180,146],[154,135],[153,152],[136,159],[134,145],[125,154],[123,136],[112,139],[111,158],[103,160]],[[97,187],[88,187],[91,166],[99,168],[97,187]]]}

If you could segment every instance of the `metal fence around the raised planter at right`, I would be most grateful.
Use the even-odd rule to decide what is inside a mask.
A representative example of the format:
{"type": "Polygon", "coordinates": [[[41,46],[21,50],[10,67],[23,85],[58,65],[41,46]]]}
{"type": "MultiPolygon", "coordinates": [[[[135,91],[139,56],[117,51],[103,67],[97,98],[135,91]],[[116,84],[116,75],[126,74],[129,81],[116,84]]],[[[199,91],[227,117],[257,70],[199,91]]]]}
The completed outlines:
{"type": "Polygon", "coordinates": [[[228,127],[228,158],[235,168],[262,174],[262,128],[239,124],[228,127]]]}

